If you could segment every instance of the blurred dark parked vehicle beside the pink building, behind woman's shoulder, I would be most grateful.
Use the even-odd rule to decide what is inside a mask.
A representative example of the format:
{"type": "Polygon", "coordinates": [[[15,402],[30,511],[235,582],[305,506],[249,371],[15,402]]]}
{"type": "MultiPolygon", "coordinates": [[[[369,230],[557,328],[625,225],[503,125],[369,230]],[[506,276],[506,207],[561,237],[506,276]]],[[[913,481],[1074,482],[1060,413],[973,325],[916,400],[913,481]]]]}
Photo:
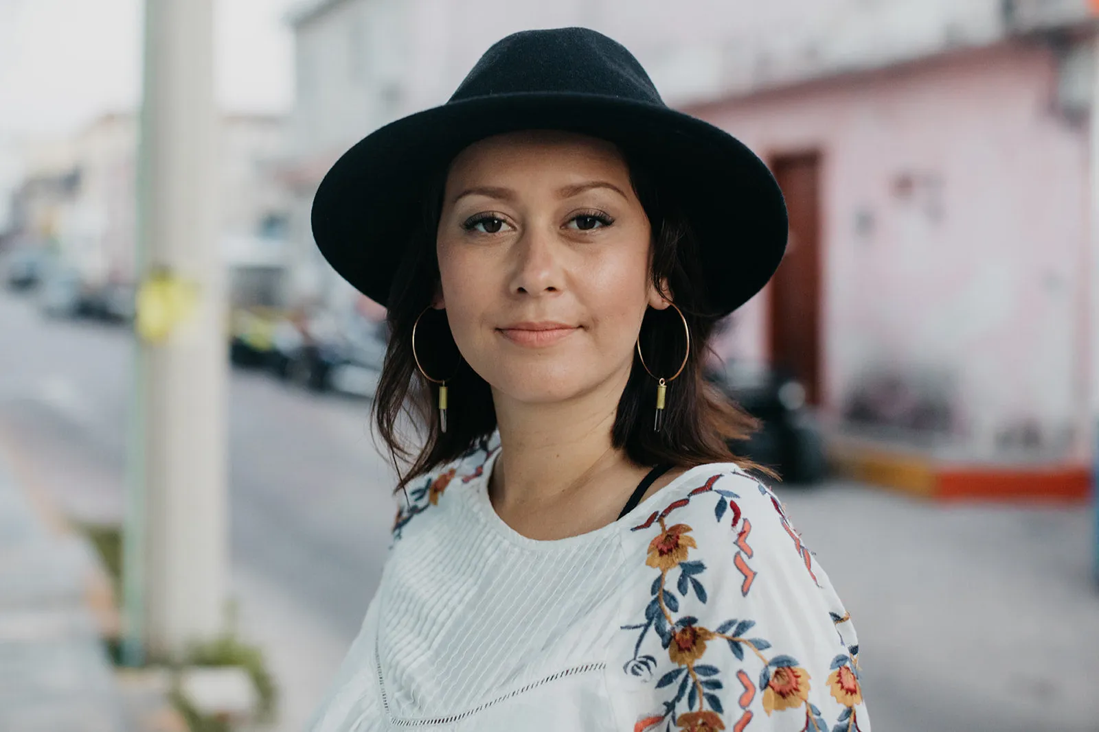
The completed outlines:
{"type": "Polygon", "coordinates": [[[771,468],[784,483],[815,483],[828,473],[820,429],[806,405],[806,388],[769,367],[730,362],[707,378],[761,421],[736,454],[771,468]]]}

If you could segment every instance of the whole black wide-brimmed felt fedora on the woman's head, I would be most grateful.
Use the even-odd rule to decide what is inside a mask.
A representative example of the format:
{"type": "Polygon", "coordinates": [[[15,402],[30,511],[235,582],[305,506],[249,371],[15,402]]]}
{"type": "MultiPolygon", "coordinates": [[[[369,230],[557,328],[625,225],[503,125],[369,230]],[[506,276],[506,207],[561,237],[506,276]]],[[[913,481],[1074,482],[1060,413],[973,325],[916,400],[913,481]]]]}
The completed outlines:
{"type": "Polygon", "coordinates": [[[581,27],[509,35],[445,104],[347,150],[313,200],[313,238],[324,258],[385,305],[429,177],[470,144],[519,129],[588,134],[644,159],[686,210],[713,314],[747,302],[778,267],[786,204],[763,161],[729,133],[669,109],[629,50],[581,27]]]}

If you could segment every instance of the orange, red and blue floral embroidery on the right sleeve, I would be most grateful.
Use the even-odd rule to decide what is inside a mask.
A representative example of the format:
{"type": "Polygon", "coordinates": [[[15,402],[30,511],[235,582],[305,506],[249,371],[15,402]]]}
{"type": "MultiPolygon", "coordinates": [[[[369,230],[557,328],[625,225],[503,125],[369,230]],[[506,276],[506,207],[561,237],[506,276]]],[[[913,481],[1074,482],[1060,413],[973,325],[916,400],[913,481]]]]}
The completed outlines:
{"type": "MultiPolygon", "coordinates": [[[[676,617],[679,612],[680,601],[688,599],[691,595],[703,605],[708,600],[702,579],[707,568],[706,563],[690,556],[691,550],[698,549],[698,543],[690,536],[691,527],[687,523],[676,523],[669,527],[665,522],[669,514],[689,505],[691,499],[698,496],[717,494],[714,517],[719,522],[724,520],[726,514],[732,514],[730,528],[736,532],[735,540],[731,542],[736,549],[733,563],[744,575],[741,587],[744,595],[751,592],[756,577],[756,572],[747,564],[747,560],[754,554],[751,544],[748,544],[752,525],[742,517],[740,506],[736,503],[740,496],[731,491],[715,487],[720,477],[722,475],[711,476],[685,498],[670,503],[663,510],[653,513],[644,523],[633,527],[634,531],[639,531],[648,529],[654,523],[658,526],[659,533],[648,543],[645,564],[659,571],[659,576],[653,581],[652,599],[645,607],[645,621],[622,627],[623,630],[637,631],[633,657],[623,665],[623,672],[639,677],[654,673],[658,666],[656,657],[641,654],[642,642],[652,630],[659,638],[662,647],[667,651],[668,658],[674,665],[671,671],[656,680],[655,686],[657,689],[668,688],[669,695],[670,690],[675,689],[674,696],[664,702],[663,711],[646,716],[639,721],[635,732],[655,730],[656,725],[665,720],[667,720],[666,732],[671,732],[673,723],[685,732],[711,732],[725,729],[725,721],[722,718],[725,712],[717,694],[724,688],[724,682],[720,678],[721,671],[717,666],[704,663],[706,655],[712,649],[715,640],[725,641],[722,645],[728,644],[730,652],[737,661],[745,660],[745,650],[759,661],[762,671],[758,688],[763,691],[763,708],[767,716],[804,709],[806,721],[802,728],[804,731],[829,732],[821,710],[809,700],[809,692],[812,688],[809,672],[789,655],[777,655],[768,658],[764,651],[770,647],[770,642],[763,638],[747,637],[748,631],[755,627],[754,620],[730,619],[711,630],[701,626],[698,618],[692,616],[676,617]],[[678,572],[678,577],[673,583],[671,579],[676,572],[678,572]]],[[[761,486],[761,491],[765,495],[769,495],[769,492],[763,486],[761,486]]],[[[774,496],[771,495],[771,497],[774,496]]],[[[812,573],[809,550],[804,549],[800,539],[797,538],[797,533],[789,527],[777,499],[774,503],[787,532],[796,538],[799,554],[804,559],[806,566],[815,583],[817,577],[812,573]]],[[[841,622],[850,620],[850,617],[833,616],[833,620],[841,622]]],[[[851,656],[839,655],[833,661],[828,686],[832,697],[845,707],[845,711],[840,717],[840,723],[831,732],[844,732],[848,730],[848,732],[858,730],[855,707],[862,703],[862,692],[858,688],[857,673],[857,667],[852,665],[851,656]]],[[[741,713],[733,727],[733,732],[743,732],[753,718],[748,706],[755,699],[756,686],[743,669],[736,672],[736,679],[744,690],[736,700],[741,713]]]]}

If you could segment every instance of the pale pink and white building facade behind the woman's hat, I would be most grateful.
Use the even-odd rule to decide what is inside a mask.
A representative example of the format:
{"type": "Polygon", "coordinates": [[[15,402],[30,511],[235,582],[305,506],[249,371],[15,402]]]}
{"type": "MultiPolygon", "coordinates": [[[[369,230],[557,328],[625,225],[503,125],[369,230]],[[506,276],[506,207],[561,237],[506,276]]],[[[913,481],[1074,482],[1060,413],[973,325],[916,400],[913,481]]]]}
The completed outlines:
{"type": "Polygon", "coordinates": [[[1085,454],[1094,0],[314,0],[292,15],[300,292],[354,294],[309,205],[338,155],[529,27],[586,25],[773,167],[790,254],[723,353],[835,423],[1085,454]]]}

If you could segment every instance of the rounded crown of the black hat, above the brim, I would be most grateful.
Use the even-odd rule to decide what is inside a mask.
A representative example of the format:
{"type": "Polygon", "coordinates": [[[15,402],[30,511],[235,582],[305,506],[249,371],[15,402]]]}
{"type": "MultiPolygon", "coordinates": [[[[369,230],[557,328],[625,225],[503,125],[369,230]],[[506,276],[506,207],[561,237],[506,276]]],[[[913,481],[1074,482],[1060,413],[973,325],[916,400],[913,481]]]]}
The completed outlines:
{"type": "Polygon", "coordinates": [[[511,93],[598,94],[664,105],[633,54],[585,27],[522,31],[492,44],[449,101],[511,93]]]}

